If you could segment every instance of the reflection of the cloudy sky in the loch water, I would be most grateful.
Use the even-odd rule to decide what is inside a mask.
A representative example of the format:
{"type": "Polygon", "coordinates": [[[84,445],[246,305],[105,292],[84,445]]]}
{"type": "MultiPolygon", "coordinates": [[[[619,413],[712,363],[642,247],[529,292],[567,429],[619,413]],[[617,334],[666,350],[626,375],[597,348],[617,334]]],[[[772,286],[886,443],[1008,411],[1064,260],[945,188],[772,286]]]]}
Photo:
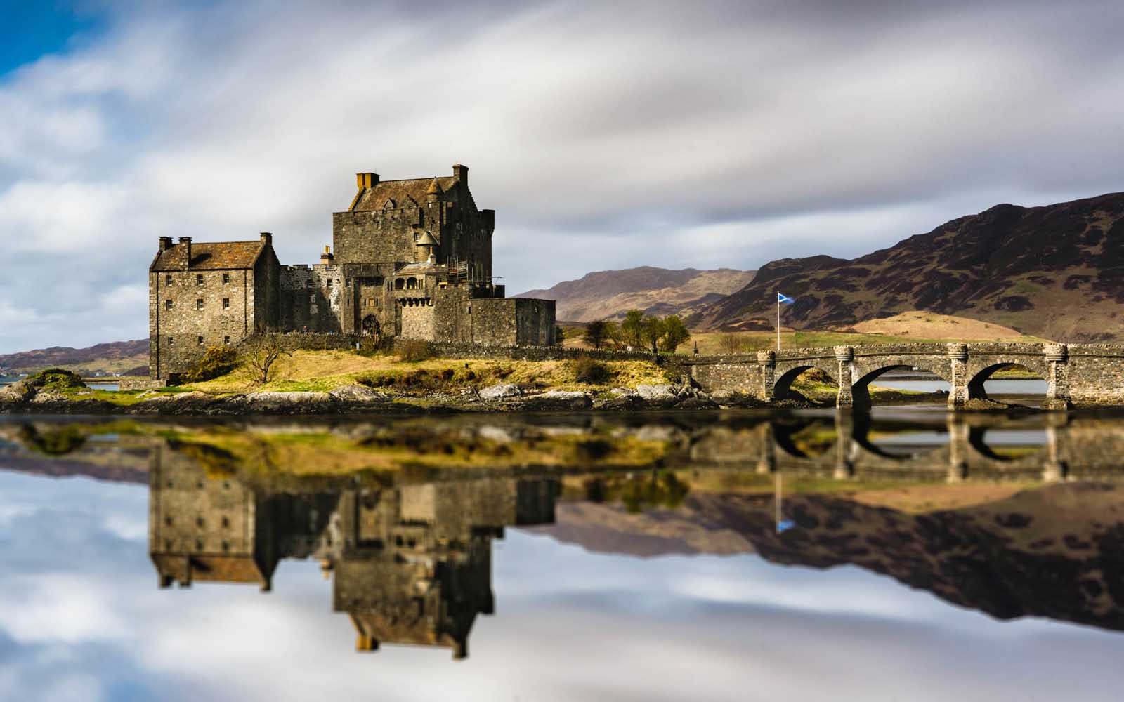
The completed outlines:
{"type": "Polygon", "coordinates": [[[354,651],[315,560],[160,590],[146,485],[3,469],[0,702],[1117,700],[1124,636],[998,622],[854,566],[590,554],[508,529],[469,658],[354,651]]]}

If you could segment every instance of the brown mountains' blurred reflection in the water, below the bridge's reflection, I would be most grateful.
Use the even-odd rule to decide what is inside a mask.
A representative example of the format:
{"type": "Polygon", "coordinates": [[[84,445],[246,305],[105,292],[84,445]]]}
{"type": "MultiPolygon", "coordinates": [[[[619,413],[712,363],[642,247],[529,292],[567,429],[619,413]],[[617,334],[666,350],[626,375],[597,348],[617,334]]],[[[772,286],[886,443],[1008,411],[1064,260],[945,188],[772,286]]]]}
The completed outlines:
{"type": "Polygon", "coordinates": [[[1124,630],[1120,493],[1112,484],[1059,484],[924,513],[794,495],[785,509],[796,528],[783,534],[771,496],[704,493],[678,510],[640,514],[560,505],[558,523],[531,530],[595,553],[756,553],[780,565],[853,565],[998,619],[1124,630]]]}

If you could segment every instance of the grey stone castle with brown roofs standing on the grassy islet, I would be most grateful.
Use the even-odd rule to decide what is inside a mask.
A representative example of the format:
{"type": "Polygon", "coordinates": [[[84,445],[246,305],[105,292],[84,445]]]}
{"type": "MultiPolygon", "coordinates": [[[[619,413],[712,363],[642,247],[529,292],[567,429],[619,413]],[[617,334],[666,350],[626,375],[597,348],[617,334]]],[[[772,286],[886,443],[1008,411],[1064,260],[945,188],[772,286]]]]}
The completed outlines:
{"type": "Polygon", "coordinates": [[[477,209],[466,166],[451,176],[355,181],[319,264],[282,266],[269,233],[253,241],[161,237],[148,267],[149,375],[166,380],[208,347],[255,332],[555,343],[553,300],[505,298],[496,284],[496,212],[477,209]]]}

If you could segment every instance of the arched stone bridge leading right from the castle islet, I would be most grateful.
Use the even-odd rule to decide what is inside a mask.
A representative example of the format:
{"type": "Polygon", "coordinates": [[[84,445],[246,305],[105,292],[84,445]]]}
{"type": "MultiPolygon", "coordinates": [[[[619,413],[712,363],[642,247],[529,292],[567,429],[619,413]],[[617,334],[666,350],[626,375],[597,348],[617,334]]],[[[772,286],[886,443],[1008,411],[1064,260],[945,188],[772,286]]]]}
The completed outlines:
{"type": "Polygon", "coordinates": [[[923,370],[949,383],[949,407],[986,400],[984,383],[1022,367],[1046,381],[1045,408],[1124,404],[1124,346],[1106,344],[895,344],[759,352],[687,359],[707,392],[741,392],[771,401],[790,395],[798,375],[818,368],[839,385],[836,405],[867,409],[869,386],[889,371],[923,370]]]}

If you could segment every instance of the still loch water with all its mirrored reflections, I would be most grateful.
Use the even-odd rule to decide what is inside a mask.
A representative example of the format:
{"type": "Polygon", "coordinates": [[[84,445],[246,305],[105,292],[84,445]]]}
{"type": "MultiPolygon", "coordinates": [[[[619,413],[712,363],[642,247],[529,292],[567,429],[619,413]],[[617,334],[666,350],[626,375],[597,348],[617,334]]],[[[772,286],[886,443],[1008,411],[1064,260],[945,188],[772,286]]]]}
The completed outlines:
{"type": "Polygon", "coordinates": [[[1124,414],[0,418],[3,700],[1117,700],[1124,414]]]}

